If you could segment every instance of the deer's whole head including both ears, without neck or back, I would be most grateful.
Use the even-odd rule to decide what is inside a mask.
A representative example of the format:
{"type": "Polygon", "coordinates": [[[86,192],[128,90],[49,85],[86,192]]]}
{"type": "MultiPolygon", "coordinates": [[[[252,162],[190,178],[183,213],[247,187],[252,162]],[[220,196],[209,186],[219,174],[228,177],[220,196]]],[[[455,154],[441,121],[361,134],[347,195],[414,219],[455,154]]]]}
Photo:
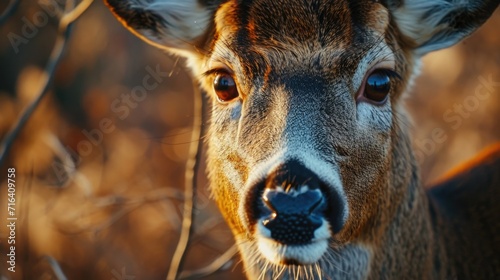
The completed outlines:
{"type": "Polygon", "coordinates": [[[360,275],[413,176],[400,99],[418,58],[496,7],[107,2],[147,42],[186,56],[212,97],[211,189],[247,269],[356,255],[360,275]]]}

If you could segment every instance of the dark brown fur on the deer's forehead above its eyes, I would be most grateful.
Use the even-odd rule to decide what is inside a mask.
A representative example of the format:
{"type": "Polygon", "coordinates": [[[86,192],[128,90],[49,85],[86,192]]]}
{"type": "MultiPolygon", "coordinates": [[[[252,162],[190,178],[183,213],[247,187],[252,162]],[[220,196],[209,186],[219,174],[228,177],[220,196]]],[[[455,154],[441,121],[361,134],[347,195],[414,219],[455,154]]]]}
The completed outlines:
{"type": "Polygon", "coordinates": [[[389,16],[376,1],[243,0],[223,4],[215,22],[214,41],[223,41],[252,75],[270,65],[289,68],[285,62],[308,70],[328,70],[333,61],[355,65],[385,40],[389,16]]]}

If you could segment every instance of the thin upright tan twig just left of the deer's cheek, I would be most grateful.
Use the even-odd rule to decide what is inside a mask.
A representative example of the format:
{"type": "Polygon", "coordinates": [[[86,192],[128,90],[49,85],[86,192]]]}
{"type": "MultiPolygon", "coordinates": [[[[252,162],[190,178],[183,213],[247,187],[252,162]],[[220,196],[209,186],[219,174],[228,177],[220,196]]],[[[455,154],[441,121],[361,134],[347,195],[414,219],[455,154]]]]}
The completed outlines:
{"type": "Polygon", "coordinates": [[[186,249],[189,245],[191,234],[193,232],[194,219],[194,200],[196,194],[196,174],[198,173],[201,159],[201,150],[203,141],[200,140],[203,135],[203,96],[198,85],[193,82],[194,101],[193,101],[193,133],[191,134],[191,145],[189,146],[189,158],[186,163],[185,186],[184,186],[184,211],[182,215],[182,229],[179,243],[172,257],[167,280],[177,279],[182,264],[185,259],[186,249]]]}

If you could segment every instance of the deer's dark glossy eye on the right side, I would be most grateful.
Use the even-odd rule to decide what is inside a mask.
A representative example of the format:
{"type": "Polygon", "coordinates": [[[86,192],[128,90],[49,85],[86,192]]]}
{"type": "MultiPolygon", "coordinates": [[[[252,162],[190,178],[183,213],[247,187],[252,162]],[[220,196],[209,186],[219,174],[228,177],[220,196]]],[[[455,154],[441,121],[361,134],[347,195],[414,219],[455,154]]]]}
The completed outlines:
{"type": "Polygon", "coordinates": [[[391,78],[398,75],[388,69],[372,72],[365,82],[363,95],[376,103],[383,103],[391,91],[391,78]]]}

